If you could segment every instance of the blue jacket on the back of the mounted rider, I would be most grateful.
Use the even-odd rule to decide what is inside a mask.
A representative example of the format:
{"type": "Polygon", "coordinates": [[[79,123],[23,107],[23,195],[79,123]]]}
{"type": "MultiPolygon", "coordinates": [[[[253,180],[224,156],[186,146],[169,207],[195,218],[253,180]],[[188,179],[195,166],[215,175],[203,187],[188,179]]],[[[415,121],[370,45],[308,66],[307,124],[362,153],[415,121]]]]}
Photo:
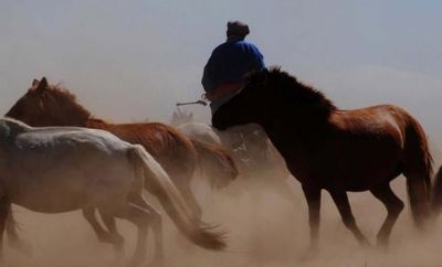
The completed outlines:
{"type": "MultiPolygon", "coordinates": [[[[243,40],[228,40],[213,50],[204,66],[201,84],[209,93],[222,84],[241,82],[248,72],[264,67],[264,57],[254,44],[243,40]]],[[[219,106],[213,102],[212,105],[219,106]]]]}

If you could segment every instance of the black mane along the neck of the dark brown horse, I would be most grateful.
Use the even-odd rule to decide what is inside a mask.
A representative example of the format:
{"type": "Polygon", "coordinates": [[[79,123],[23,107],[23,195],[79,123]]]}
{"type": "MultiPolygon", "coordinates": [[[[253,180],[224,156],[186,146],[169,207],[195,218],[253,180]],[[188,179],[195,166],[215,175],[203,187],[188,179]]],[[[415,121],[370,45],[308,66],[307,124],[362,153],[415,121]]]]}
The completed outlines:
{"type": "Polygon", "coordinates": [[[282,94],[284,100],[291,106],[314,107],[327,115],[337,109],[322,92],[301,83],[296,77],[281,71],[281,67],[272,67],[266,73],[267,81],[272,84],[272,90],[282,94]]]}

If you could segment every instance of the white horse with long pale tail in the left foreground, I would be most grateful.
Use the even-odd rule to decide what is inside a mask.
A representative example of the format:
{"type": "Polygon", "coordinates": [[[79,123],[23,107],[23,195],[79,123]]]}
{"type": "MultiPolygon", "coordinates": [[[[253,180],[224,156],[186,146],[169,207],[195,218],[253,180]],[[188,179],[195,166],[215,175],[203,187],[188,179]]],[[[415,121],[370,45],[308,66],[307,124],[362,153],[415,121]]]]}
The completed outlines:
{"type": "MultiPolygon", "coordinates": [[[[97,209],[110,234],[114,217],[138,227],[133,264],[146,257],[151,206],[143,189],[156,195],[177,227],[194,244],[222,249],[213,233],[188,209],[169,177],[138,145],[114,135],[76,127],[33,128],[0,118],[0,257],[11,203],[42,213],[97,209]]],[[[115,222],[114,222],[115,223],[115,222]]],[[[155,260],[162,260],[161,241],[155,260]]]]}

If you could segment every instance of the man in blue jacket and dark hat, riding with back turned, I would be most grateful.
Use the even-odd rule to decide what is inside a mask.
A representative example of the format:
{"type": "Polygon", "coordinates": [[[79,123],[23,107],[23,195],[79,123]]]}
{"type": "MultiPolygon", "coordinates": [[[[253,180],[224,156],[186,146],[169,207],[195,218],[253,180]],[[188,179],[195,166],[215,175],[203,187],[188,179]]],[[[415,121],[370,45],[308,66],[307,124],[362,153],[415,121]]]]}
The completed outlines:
{"type": "MultiPolygon", "coordinates": [[[[204,66],[201,84],[206,98],[210,100],[212,115],[241,90],[248,73],[265,68],[264,57],[260,50],[254,44],[244,41],[249,33],[248,24],[229,21],[227,41],[213,50],[204,66]]],[[[230,143],[238,152],[243,152],[241,158],[249,161],[248,164],[260,164],[260,161],[266,160],[262,151],[249,153],[253,147],[263,147],[260,145],[266,142],[265,134],[257,126],[240,127],[231,130],[229,136],[230,140],[223,140],[223,142],[230,143]]]]}

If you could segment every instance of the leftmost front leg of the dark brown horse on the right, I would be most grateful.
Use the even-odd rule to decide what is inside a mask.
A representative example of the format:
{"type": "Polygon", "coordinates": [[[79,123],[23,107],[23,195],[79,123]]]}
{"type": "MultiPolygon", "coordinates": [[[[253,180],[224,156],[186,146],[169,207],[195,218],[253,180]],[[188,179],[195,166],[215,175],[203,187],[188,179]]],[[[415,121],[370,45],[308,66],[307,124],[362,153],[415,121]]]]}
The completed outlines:
{"type": "Polygon", "coordinates": [[[303,184],[303,191],[308,205],[308,223],[311,226],[311,252],[318,248],[318,232],[320,216],[320,189],[303,184]]]}

